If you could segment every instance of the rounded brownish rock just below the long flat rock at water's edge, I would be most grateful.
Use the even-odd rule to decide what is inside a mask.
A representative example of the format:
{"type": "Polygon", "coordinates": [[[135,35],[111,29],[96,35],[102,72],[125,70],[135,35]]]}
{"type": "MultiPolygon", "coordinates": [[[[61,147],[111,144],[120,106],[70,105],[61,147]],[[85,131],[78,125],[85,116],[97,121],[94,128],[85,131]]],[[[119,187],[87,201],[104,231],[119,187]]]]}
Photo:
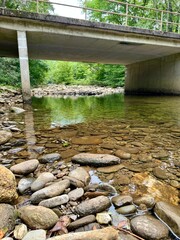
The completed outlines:
{"type": "Polygon", "coordinates": [[[69,177],[76,178],[81,181],[85,186],[90,182],[90,174],[82,167],[77,167],[69,173],[69,177]]]}

